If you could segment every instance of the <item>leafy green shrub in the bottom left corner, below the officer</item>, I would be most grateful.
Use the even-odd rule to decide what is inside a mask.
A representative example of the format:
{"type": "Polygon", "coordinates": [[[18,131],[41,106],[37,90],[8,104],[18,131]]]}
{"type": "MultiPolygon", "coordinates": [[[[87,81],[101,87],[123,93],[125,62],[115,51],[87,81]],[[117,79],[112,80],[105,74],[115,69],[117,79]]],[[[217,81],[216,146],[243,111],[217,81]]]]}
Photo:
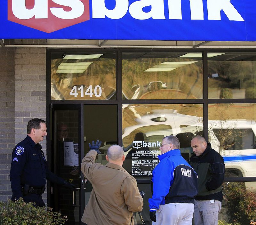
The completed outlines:
{"type": "Polygon", "coordinates": [[[60,213],[52,212],[52,208],[34,207],[34,203],[18,201],[0,202],[1,225],[61,225],[68,219],[60,213]]]}

